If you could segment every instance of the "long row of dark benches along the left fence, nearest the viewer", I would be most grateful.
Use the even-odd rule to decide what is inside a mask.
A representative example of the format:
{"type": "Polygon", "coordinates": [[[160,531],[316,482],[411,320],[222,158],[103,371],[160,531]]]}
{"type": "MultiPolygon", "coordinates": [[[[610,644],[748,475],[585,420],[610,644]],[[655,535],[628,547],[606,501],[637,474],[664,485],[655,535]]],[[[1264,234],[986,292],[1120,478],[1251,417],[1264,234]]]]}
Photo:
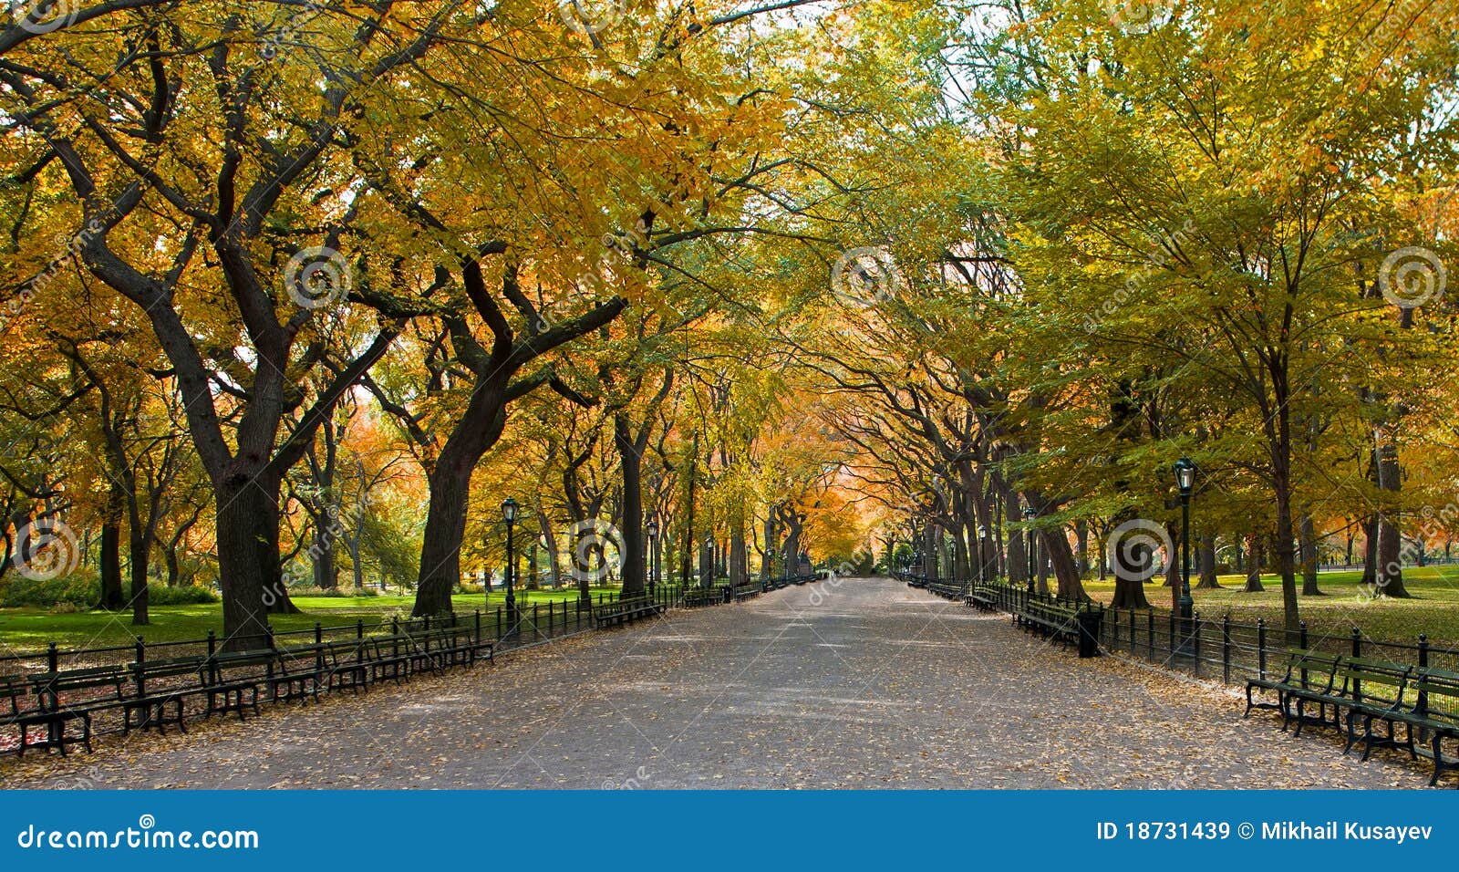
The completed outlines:
{"type": "Polygon", "coordinates": [[[203,716],[245,709],[258,713],[260,691],[268,701],[318,698],[321,691],[368,690],[381,680],[406,681],[416,672],[439,672],[493,658],[495,642],[467,627],[426,633],[318,642],[181,656],[114,666],[86,666],[34,675],[0,675],[0,728],[19,729],[16,748],[92,750],[92,722],[104,712],[121,713],[123,733],[168,723],[187,732],[184,703],[204,700],[203,716]],[[77,725],[80,735],[69,733],[77,725]],[[42,738],[31,741],[31,732],[42,738]]]}

